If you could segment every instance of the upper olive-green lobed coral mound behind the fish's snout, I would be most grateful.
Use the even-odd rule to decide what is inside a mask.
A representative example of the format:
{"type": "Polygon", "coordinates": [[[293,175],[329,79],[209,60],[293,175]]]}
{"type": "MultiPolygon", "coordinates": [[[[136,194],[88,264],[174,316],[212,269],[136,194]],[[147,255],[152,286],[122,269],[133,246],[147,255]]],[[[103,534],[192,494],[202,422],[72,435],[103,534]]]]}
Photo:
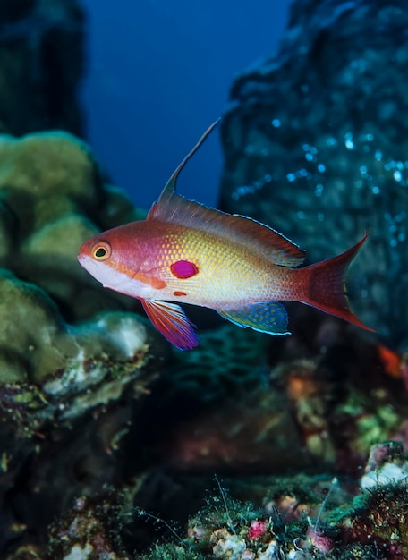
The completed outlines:
{"type": "Polygon", "coordinates": [[[97,283],[78,267],[81,242],[140,217],[103,184],[87,145],[65,132],[4,135],[0,159],[1,266],[45,289],[72,319],[129,308],[128,298],[93,290],[97,283]]]}

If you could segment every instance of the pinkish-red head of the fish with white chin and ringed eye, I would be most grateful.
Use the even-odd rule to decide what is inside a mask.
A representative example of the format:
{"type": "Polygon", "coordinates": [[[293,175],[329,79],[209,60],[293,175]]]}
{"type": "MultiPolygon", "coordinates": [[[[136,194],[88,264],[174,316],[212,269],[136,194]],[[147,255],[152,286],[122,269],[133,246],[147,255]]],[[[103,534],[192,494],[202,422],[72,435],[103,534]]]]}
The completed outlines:
{"type": "Polygon", "coordinates": [[[138,224],[95,235],[81,245],[78,260],[104,287],[136,298],[150,298],[160,286],[154,276],[143,273],[149,267],[151,248],[143,235],[138,235],[138,224]]]}

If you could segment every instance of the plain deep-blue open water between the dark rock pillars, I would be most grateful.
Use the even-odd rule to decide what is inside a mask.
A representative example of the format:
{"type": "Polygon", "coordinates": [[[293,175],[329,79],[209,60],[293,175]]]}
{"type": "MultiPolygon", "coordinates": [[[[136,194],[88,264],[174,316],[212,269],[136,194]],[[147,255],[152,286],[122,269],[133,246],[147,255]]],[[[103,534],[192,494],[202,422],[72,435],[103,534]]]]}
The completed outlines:
{"type": "MultiPolygon", "coordinates": [[[[88,140],[113,182],[149,208],[225,109],[236,72],[276,53],[288,0],[82,0],[88,140]]],[[[181,194],[217,204],[218,132],[183,171],[181,194]]]]}

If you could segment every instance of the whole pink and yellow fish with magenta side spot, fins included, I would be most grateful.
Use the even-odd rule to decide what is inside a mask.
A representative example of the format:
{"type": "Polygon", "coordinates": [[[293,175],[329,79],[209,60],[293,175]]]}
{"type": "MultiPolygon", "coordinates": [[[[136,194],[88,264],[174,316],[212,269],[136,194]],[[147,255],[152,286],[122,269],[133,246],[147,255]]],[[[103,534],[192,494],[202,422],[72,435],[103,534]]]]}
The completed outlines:
{"type": "Polygon", "coordinates": [[[279,301],[302,301],[365,327],[350,309],[344,273],[367,239],[333,259],[308,267],[304,251],[268,225],[207,208],[175,192],[183,166],[212,124],[166,183],[146,220],[99,233],[78,259],[105,287],[138,298],[149,319],[181,350],[198,344],[178,303],[208,307],[239,327],[287,335],[279,301]]]}

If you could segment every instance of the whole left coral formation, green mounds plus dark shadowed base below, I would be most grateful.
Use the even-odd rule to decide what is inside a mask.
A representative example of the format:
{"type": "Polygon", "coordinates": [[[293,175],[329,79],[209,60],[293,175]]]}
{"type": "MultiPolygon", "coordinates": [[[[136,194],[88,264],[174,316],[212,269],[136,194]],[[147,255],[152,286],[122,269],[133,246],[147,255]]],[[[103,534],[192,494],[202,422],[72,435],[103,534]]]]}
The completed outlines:
{"type": "Polygon", "coordinates": [[[31,532],[35,549],[72,499],[120,478],[168,350],[77,263],[89,235],[139,216],[89,148],[63,132],[4,135],[0,162],[2,554],[31,532]]]}

